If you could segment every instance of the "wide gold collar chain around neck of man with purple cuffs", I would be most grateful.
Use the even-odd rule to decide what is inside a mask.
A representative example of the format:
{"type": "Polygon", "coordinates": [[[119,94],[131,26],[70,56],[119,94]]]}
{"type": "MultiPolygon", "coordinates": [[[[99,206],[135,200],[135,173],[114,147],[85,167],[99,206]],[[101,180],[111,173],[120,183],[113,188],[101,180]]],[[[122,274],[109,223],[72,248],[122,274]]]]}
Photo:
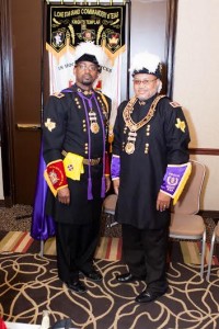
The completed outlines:
{"type": "Polygon", "coordinates": [[[164,94],[161,94],[159,97],[157,97],[154,99],[154,101],[152,102],[147,115],[141,120],[139,121],[138,123],[135,123],[130,116],[130,114],[132,113],[134,111],[134,106],[137,102],[137,98],[134,97],[132,99],[130,99],[130,101],[128,102],[128,104],[126,105],[125,110],[124,110],[124,113],[123,113],[123,117],[124,117],[124,121],[126,123],[126,126],[131,131],[131,132],[137,132],[138,129],[140,129],[141,127],[143,127],[154,115],[154,112],[155,112],[155,106],[158,104],[158,102],[160,101],[160,99],[164,98],[165,95],[164,94]]]}

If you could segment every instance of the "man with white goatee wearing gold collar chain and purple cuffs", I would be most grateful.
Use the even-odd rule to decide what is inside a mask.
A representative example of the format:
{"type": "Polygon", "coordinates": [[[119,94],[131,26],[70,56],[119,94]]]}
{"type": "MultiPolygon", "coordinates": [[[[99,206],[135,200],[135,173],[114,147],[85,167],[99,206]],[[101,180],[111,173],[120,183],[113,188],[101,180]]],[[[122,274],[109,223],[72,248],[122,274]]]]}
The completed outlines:
{"type": "Polygon", "coordinates": [[[114,127],[115,220],[122,224],[123,259],[128,265],[116,280],[146,281],[138,303],[152,302],[168,291],[170,204],[191,172],[188,127],[182,107],[159,94],[161,68],[157,55],[136,55],[130,68],[135,97],[122,102],[114,127]]]}

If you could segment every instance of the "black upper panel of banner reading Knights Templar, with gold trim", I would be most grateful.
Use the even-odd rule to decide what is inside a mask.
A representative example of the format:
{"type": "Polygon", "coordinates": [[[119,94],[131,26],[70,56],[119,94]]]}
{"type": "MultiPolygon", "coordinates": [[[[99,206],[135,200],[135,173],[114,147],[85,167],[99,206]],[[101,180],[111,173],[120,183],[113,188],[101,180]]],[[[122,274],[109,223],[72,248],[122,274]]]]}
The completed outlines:
{"type": "Polygon", "coordinates": [[[125,48],[125,5],[48,5],[47,48],[55,56],[66,46],[92,41],[114,60],[125,48]]]}

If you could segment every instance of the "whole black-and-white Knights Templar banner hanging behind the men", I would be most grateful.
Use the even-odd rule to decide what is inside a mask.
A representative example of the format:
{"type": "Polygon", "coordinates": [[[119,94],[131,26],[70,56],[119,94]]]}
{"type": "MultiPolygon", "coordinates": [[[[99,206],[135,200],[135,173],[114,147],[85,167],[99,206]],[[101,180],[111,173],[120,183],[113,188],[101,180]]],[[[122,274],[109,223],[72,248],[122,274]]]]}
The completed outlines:
{"type": "Polygon", "coordinates": [[[74,48],[78,44],[93,42],[101,46],[106,56],[94,87],[112,99],[111,135],[120,103],[125,19],[125,5],[47,5],[50,93],[74,83],[74,48]]]}

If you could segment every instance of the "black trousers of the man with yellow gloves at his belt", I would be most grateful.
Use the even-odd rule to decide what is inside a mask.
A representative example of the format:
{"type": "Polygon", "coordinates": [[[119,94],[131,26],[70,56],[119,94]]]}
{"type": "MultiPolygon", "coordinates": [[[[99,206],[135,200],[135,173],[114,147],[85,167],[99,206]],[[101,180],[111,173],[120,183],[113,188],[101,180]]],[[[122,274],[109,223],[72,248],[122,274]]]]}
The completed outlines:
{"type": "Polygon", "coordinates": [[[101,206],[90,224],[56,223],[58,276],[64,282],[79,279],[79,271],[89,272],[99,242],[101,206]]]}

